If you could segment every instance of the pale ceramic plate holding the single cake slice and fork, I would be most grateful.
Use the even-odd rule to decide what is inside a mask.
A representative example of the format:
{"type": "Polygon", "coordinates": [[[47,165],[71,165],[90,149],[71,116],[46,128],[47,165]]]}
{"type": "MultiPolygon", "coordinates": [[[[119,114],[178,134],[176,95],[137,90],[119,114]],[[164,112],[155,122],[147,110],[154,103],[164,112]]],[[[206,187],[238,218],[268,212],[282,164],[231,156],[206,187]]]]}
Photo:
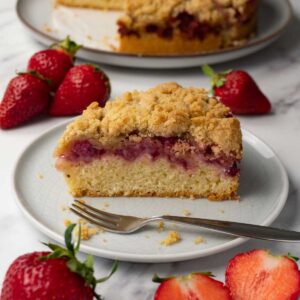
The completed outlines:
{"type": "MultiPolygon", "coordinates": [[[[17,161],[13,188],[25,216],[42,232],[63,241],[64,219],[78,218],[62,207],[72,202],[62,174],[54,167],[53,149],[65,124],[42,134],[32,142],[17,161]]],[[[241,166],[241,201],[211,202],[206,199],[171,198],[84,198],[91,205],[107,211],[135,216],[160,214],[205,217],[252,224],[269,225],[281,212],[288,193],[287,175],[274,152],[253,134],[243,131],[244,160],[241,166]]],[[[170,262],[206,256],[245,241],[242,238],[205,229],[166,224],[162,232],[157,224],[130,234],[100,233],[83,241],[81,251],[98,256],[135,262],[170,262]],[[182,241],[162,246],[169,230],[177,230],[182,241]],[[201,235],[204,242],[195,244],[201,235]]]]}

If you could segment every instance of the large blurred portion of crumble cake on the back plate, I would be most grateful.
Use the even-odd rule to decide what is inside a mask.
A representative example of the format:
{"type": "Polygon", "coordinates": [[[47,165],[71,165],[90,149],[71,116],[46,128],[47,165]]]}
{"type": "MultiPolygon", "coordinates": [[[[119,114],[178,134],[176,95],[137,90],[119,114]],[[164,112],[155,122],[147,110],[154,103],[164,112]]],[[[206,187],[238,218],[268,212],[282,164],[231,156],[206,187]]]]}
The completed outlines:
{"type": "Polygon", "coordinates": [[[242,43],[256,31],[259,0],[126,0],[119,51],[194,54],[242,43]]]}

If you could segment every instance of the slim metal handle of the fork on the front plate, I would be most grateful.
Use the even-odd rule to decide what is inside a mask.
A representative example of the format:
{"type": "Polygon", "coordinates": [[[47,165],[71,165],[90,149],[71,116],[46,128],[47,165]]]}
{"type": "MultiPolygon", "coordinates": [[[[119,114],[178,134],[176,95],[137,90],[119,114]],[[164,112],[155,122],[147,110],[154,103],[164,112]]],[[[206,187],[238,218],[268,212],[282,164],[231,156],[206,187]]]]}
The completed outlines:
{"type": "Polygon", "coordinates": [[[190,225],[197,225],[203,228],[221,231],[235,236],[244,236],[254,239],[273,240],[282,242],[300,242],[300,232],[289,231],[274,227],[177,216],[161,216],[161,219],[186,223],[190,225]]]}

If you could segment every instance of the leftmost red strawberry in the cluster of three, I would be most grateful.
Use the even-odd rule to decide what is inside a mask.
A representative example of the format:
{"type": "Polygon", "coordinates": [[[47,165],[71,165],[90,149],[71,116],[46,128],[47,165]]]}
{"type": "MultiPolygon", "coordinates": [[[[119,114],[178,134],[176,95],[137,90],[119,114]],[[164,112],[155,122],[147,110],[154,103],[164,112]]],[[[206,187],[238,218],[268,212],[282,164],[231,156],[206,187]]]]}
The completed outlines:
{"type": "Polygon", "coordinates": [[[49,100],[46,80],[36,72],[19,74],[9,82],[0,103],[0,128],[15,127],[41,114],[49,100]]]}

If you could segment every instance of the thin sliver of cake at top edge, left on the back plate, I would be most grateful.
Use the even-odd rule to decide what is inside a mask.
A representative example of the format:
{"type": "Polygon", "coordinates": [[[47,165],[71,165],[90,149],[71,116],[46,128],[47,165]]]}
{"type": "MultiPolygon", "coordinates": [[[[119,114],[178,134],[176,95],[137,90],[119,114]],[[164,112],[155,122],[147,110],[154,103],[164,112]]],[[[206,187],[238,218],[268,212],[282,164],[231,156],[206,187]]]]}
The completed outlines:
{"type": "Polygon", "coordinates": [[[122,10],[125,0],[56,0],[57,4],[107,10],[122,10]]]}

